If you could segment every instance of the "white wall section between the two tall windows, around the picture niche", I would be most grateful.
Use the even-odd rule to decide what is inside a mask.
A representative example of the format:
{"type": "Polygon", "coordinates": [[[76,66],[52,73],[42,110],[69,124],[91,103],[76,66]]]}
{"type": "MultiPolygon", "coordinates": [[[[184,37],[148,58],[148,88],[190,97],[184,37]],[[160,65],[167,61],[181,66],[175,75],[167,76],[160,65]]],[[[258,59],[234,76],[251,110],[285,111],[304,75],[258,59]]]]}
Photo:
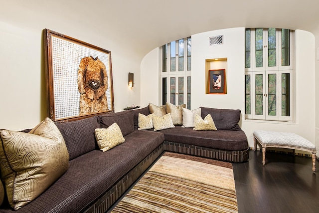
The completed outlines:
{"type": "Polygon", "coordinates": [[[191,36],[191,44],[191,108],[244,109],[245,28],[195,34],[191,36]],[[210,46],[209,37],[217,35],[224,35],[224,43],[210,46]],[[227,58],[227,94],[206,94],[206,59],[213,58],[227,58]]]}

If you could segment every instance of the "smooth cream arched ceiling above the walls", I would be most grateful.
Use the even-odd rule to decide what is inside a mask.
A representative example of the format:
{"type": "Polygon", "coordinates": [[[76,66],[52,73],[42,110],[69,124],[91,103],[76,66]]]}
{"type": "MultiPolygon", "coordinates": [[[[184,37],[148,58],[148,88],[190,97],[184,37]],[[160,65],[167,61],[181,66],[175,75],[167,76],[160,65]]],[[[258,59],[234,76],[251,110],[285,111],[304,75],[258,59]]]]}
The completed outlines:
{"type": "Polygon", "coordinates": [[[32,27],[42,18],[69,27],[89,25],[92,33],[105,34],[140,57],[169,41],[216,29],[277,27],[319,32],[319,0],[0,1],[4,5],[0,21],[24,21],[32,27]],[[21,15],[25,18],[18,20],[21,15]]]}

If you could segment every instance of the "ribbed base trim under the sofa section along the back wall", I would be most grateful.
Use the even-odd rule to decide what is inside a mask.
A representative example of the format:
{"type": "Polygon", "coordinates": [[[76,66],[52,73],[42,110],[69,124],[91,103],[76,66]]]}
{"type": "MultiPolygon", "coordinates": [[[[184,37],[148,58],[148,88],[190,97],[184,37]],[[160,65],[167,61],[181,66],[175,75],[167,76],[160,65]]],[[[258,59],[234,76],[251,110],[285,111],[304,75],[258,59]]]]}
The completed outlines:
{"type": "Polygon", "coordinates": [[[241,163],[248,161],[249,148],[243,151],[226,151],[207,147],[194,146],[176,142],[164,141],[164,150],[204,158],[241,163]]]}

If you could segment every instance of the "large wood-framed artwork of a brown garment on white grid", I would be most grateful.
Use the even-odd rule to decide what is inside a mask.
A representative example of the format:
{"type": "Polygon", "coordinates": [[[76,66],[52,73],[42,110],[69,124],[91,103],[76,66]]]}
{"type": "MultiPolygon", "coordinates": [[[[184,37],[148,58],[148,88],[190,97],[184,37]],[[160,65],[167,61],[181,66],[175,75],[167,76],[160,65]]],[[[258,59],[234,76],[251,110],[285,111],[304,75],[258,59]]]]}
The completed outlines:
{"type": "Polygon", "coordinates": [[[48,114],[69,121],[114,112],[111,52],[44,29],[48,114]]]}

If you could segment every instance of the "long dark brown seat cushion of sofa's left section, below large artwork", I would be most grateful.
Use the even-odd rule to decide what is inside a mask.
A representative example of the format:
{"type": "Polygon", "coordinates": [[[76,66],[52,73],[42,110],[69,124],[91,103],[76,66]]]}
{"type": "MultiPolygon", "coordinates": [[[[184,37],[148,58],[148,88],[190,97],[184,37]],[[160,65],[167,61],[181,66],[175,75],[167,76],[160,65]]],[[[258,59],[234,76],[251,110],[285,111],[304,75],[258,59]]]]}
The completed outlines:
{"type": "MultiPolygon", "coordinates": [[[[67,172],[37,199],[24,206],[23,213],[81,211],[164,141],[162,133],[147,130],[136,130],[124,138],[123,144],[107,152],[93,150],[71,160],[67,172]]],[[[1,211],[11,212],[9,208],[5,209],[8,210],[1,207],[1,211]]]]}

